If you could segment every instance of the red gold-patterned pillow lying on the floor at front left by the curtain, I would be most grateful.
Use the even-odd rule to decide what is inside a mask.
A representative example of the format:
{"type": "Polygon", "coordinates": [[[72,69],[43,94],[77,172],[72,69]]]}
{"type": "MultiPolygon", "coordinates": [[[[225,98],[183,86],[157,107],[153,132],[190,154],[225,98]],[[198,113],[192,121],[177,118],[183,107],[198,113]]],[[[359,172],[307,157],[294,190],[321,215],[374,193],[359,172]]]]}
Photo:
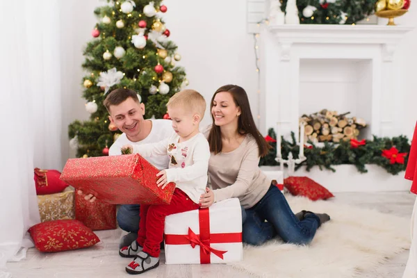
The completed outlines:
{"type": "Polygon", "coordinates": [[[100,240],[79,220],[54,220],[35,224],[29,233],[40,252],[76,250],[95,245],[100,240]]]}

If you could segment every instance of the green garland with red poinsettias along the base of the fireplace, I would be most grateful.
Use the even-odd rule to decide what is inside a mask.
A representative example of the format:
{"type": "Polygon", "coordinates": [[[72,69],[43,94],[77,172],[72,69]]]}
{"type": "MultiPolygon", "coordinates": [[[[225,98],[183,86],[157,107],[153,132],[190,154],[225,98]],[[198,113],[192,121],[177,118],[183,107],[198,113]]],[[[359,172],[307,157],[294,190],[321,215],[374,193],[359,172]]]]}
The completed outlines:
{"type": "MultiPolygon", "coordinates": [[[[268,130],[268,136],[276,139],[274,129],[268,130]]],[[[300,152],[300,146],[297,145],[295,135],[291,132],[292,142],[282,139],[281,142],[281,154],[284,158],[288,157],[290,152],[293,153],[294,158],[298,158],[300,152]]],[[[311,143],[311,142],[309,142],[311,143]]],[[[279,165],[275,161],[277,156],[277,143],[270,142],[272,149],[267,156],[261,158],[259,165],[279,165]]],[[[398,136],[393,138],[379,138],[373,136],[373,140],[367,140],[365,145],[352,148],[350,141],[342,141],[339,144],[325,142],[323,147],[312,145],[312,148],[304,147],[304,156],[306,161],[295,167],[298,170],[302,166],[306,166],[306,170],[310,171],[312,167],[318,166],[320,170],[323,168],[336,172],[334,165],[351,164],[357,167],[357,170],[361,173],[366,173],[366,164],[375,164],[383,167],[386,172],[390,174],[398,174],[405,170],[407,166],[408,157],[404,157],[404,163],[393,163],[389,158],[382,156],[383,150],[389,150],[391,147],[398,149],[400,154],[409,153],[410,145],[407,136],[398,136]]]]}

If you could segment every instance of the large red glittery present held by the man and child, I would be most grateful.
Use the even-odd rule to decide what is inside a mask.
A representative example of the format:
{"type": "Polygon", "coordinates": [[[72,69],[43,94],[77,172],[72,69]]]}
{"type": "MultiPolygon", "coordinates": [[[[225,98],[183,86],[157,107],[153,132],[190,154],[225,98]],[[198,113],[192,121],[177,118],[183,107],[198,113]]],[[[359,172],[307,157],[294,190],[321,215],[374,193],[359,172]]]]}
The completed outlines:
{"type": "Polygon", "coordinates": [[[158,172],[139,154],[72,158],[60,179],[108,204],[170,204],[175,183],[159,188],[158,172]]]}

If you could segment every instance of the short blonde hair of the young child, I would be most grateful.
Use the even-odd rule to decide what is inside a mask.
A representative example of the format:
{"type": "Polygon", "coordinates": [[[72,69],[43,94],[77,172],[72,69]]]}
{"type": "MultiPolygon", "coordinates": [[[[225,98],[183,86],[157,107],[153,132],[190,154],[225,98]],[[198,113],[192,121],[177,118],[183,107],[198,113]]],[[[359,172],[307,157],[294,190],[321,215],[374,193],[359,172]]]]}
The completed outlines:
{"type": "Polygon", "coordinates": [[[203,119],[204,112],[206,111],[206,100],[196,90],[182,90],[173,95],[168,101],[167,107],[177,105],[186,107],[190,112],[198,114],[200,120],[203,119]]]}

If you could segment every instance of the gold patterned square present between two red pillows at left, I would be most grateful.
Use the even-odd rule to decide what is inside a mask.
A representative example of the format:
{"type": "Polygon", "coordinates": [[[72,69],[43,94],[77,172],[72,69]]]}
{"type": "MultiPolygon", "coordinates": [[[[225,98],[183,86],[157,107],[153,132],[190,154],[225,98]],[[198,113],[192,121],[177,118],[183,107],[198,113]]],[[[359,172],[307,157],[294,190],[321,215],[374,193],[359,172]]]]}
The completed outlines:
{"type": "Polygon", "coordinates": [[[74,219],[74,190],[38,195],[40,222],[74,219]]]}

